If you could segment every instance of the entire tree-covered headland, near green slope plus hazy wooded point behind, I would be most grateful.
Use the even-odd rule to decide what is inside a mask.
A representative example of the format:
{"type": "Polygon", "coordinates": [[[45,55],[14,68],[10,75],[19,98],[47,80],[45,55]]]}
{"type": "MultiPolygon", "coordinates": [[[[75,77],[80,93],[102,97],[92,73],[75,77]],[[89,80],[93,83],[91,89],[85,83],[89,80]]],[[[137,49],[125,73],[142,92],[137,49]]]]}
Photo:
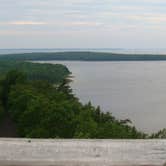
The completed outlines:
{"type": "Polygon", "coordinates": [[[129,119],[118,120],[90,102],[82,104],[72,92],[70,74],[63,65],[0,61],[0,132],[4,119],[10,119],[17,137],[165,137],[165,130],[148,136],[129,119]]]}

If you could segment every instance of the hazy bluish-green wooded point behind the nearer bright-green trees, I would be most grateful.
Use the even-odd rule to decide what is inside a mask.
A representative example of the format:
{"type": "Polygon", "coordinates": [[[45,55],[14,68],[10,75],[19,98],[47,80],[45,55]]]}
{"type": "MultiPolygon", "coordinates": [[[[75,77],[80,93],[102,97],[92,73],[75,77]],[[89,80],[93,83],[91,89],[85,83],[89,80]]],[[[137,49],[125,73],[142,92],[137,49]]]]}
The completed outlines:
{"type": "Polygon", "coordinates": [[[70,74],[69,70],[60,64],[39,64],[22,61],[0,61],[0,73],[5,75],[10,70],[25,73],[30,80],[48,80],[51,83],[62,82],[70,74]]]}

